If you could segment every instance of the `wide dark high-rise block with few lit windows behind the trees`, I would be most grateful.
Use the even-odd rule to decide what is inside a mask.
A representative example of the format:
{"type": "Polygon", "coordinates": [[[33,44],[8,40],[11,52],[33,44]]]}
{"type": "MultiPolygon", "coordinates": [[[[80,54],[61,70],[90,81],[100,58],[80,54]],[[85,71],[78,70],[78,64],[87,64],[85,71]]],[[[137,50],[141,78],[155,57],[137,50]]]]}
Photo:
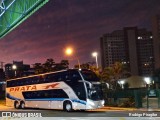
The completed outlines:
{"type": "Polygon", "coordinates": [[[100,46],[102,68],[118,61],[132,75],[150,75],[154,70],[153,37],[146,29],[126,27],[104,34],[100,46]]]}

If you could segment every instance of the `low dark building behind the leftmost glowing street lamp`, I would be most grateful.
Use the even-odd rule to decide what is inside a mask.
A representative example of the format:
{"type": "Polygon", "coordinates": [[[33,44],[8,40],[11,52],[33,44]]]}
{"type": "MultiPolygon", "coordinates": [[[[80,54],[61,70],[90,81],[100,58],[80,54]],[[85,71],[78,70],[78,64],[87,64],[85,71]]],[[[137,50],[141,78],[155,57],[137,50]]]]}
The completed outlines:
{"type": "Polygon", "coordinates": [[[5,64],[6,78],[21,77],[24,73],[29,71],[30,65],[23,64],[23,61],[13,61],[13,63],[5,64]],[[14,67],[13,67],[14,66],[14,67]]]}

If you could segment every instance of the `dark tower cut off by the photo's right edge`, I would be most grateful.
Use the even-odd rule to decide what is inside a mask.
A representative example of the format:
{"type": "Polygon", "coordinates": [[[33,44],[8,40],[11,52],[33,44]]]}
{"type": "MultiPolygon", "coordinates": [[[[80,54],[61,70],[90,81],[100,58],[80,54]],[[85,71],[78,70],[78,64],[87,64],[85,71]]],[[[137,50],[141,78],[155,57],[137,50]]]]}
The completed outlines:
{"type": "Polygon", "coordinates": [[[155,69],[160,68],[160,16],[152,18],[152,32],[155,56],[155,69]]]}

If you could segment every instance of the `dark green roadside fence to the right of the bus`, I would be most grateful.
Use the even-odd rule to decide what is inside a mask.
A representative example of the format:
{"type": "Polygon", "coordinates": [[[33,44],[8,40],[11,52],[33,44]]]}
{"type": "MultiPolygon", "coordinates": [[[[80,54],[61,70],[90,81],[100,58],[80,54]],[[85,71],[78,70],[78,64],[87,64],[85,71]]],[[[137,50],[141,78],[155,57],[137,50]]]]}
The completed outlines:
{"type": "Polygon", "coordinates": [[[160,108],[160,89],[107,90],[104,97],[107,105],[160,108]]]}

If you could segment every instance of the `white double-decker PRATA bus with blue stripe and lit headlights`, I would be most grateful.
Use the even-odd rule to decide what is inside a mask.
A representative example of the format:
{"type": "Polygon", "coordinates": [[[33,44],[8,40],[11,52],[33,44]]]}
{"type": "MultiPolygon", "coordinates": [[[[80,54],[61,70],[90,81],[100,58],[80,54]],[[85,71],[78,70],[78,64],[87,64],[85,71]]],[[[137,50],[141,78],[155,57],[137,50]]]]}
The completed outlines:
{"type": "Polygon", "coordinates": [[[6,105],[16,109],[89,110],[104,106],[102,85],[87,69],[67,69],[7,80],[6,105]]]}

